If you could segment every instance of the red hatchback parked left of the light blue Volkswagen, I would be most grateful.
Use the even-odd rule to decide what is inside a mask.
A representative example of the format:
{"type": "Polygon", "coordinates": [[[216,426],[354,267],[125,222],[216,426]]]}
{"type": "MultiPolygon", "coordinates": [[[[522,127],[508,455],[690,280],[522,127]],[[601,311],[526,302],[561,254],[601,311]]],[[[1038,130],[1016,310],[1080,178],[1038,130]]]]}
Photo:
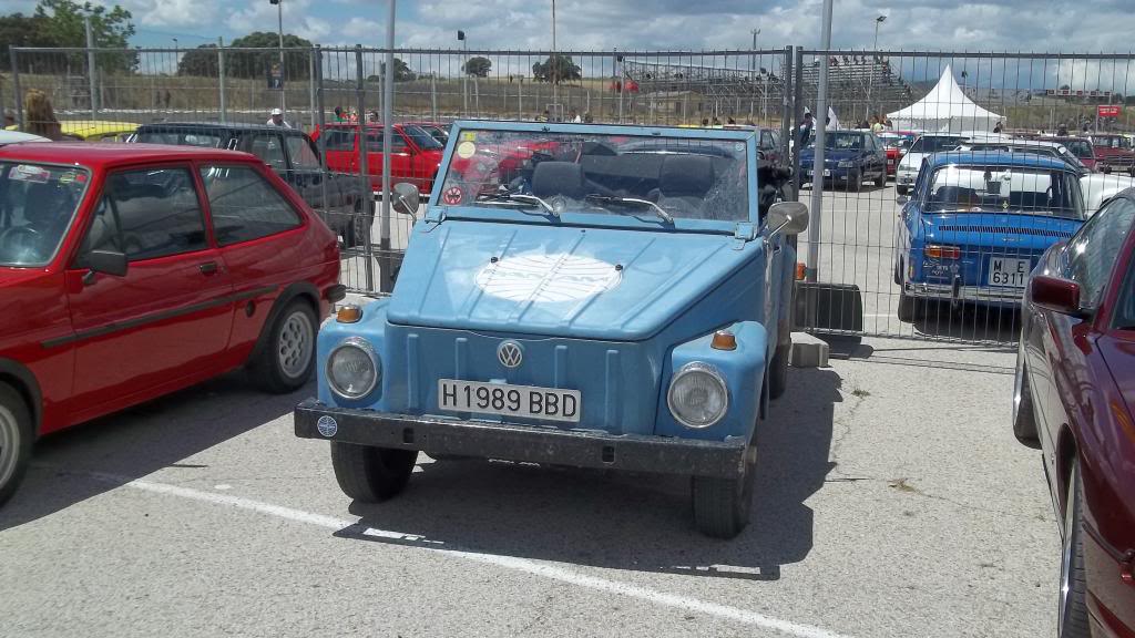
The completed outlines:
{"type": "Polygon", "coordinates": [[[247,153],[0,148],[0,503],[37,436],[249,364],[314,368],[336,236],[247,153]]]}

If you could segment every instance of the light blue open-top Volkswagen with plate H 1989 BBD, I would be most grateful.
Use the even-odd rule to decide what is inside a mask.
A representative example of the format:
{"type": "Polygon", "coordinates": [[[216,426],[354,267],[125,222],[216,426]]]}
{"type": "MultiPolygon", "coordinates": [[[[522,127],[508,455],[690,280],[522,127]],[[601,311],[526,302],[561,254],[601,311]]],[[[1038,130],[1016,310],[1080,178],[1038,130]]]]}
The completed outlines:
{"type": "Polygon", "coordinates": [[[455,123],[393,295],[320,331],[296,435],[358,501],[419,452],[676,473],[696,526],[735,536],[807,226],[757,168],[748,131],[455,123]]]}

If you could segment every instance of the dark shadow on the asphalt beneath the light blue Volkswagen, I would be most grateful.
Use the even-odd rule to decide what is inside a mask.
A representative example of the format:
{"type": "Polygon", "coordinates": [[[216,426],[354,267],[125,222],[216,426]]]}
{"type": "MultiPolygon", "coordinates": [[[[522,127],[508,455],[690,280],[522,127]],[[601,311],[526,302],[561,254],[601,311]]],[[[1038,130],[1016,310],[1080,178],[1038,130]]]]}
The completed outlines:
{"type": "MultiPolygon", "coordinates": [[[[355,502],[337,536],[598,568],[777,580],[813,546],[806,501],[830,460],[840,377],[792,369],[758,434],[749,527],[728,542],[692,528],[689,479],[480,460],[423,462],[406,492],[355,502]],[[368,528],[401,535],[365,534],[368,528]]],[[[419,459],[420,461],[422,457],[419,459]]]]}

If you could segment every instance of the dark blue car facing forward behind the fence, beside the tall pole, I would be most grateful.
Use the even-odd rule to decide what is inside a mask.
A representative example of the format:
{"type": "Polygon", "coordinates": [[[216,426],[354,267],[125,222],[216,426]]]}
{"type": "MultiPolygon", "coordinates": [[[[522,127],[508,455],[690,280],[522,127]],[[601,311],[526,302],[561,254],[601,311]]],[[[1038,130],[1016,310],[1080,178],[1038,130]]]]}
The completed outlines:
{"type": "MultiPolygon", "coordinates": [[[[800,151],[800,173],[810,183],[816,161],[816,138],[800,151]]],[[[849,191],[860,191],[865,182],[886,185],[886,148],[869,131],[824,132],[824,181],[842,182],[849,191]]]]}

